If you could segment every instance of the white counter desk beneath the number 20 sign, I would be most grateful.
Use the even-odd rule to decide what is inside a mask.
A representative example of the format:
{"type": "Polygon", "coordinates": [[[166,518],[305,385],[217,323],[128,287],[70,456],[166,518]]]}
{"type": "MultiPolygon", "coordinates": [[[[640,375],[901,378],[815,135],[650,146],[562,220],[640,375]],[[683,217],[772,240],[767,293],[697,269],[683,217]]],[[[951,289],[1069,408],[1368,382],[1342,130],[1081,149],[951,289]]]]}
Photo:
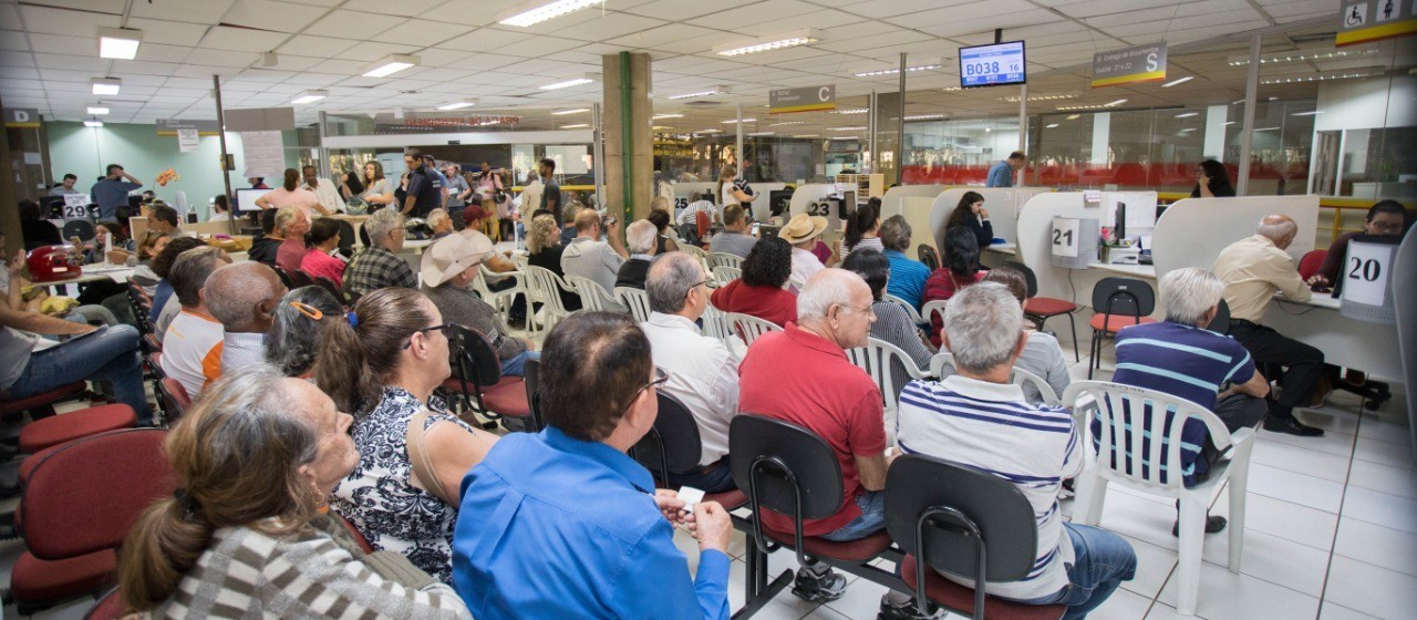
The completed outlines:
{"type": "Polygon", "coordinates": [[[1275,297],[1264,324],[1278,333],[1323,351],[1323,361],[1356,368],[1377,379],[1403,384],[1397,326],[1367,323],[1339,314],[1340,300],[1326,293],[1309,302],[1275,297]]]}

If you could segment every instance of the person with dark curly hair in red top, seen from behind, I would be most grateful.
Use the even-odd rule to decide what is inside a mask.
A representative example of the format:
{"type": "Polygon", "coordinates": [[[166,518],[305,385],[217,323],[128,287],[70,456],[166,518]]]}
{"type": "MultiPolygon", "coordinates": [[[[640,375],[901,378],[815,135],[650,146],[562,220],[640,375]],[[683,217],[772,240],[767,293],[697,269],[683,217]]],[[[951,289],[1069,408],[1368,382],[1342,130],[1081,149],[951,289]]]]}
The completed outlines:
{"type": "Polygon", "coordinates": [[[792,276],[792,246],[779,236],[760,239],[743,260],[743,277],[708,297],[726,313],[750,314],[784,327],[796,321],[796,296],[786,292],[792,276]]]}

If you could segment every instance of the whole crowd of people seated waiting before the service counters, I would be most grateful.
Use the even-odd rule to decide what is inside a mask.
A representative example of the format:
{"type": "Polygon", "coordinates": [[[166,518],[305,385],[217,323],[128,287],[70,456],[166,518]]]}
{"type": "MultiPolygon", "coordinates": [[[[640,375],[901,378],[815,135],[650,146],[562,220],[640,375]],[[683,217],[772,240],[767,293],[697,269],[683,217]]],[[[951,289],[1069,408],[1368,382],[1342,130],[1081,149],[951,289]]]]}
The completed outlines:
{"type": "MultiPolygon", "coordinates": [[[[554,163],[543,173],[550,180],[554,163]]],[[[31,310],[20,255],[3,283],[0,389],[18,401],[91,381],[136,425],[169,425],[163,454],[176,491],[137,517],[118,558],[122,606],[153,617],[726,619],[735,527],[789,546],[799,534],[806,562],[792,593],[835,600],[847,580],[820,549],[884,539],[888,495],[911,493],[887,480],[913,459],[990,474],[1032,510],[1032,562],[1016,579],[985,583],[989,596],[1081,619],[1132,579],[1136,556],[1121,536],[1060,511],[1101,430],[1095,419],[1083,427],[1070,406],[1044,403],[1044,391],[1068,389],[1063,350],[1026,318],[1026,273],[982,268],[992,232],[978,194],[951,217],[939,259],[918,251],[935,262],[927,266],[907,255],[910,224],[881,219],[879,204],[857,209],[835,248],[820,241],[826,221],[806,215],[754,238],[743,207],[754,195],[727,183],[717,193],[726,205],[707,209],[721,231],[703,242],[740,258],[728,270],[710,269],[700,248],[677,238],[662,201],[622,235],[615,218],[558,204],[558,190],[541,194],[523,222],[524,258],[495,251],[480,207],[456,214],[461,231],[445,224],[446,211],[429,209],[438,241],[417,276],[400,256],[398,208],[373,211],[366,248],[347,263],[334,221],[312,222],[295,204],[261,214],[249,260],[162,225],[150,259],[115,243],[120,262],[132,255],[142,265],[137,290],[98,300],[122,307],[150,297],[150,314],[135,317],[142,330],[31,310]],[[534,269],[564,279],[555,300],[487,299],[524,286],[534,269]],[[621,289],[643,290],[639,320],[621,289]],[[568,316],[547,317],[554,306],[568,316]],[[769,327],[757,337],[708,334],[727,313],[769,327]],[[513,330],[547,323],[540,347],[513,330]],[[449,406],[469,402],[449,388],[468,379],[469,334],[495,351],[495,384],[521,389],[520,378],[536,375],[530,415],[503,416],[497,429],[476,408],[449,406]],[[850,357],[873,343],[900,352],[884,385],[850,357]],[[939,354],[948,364],[931,375],[939,354]],[[1040,382],[1015,384],[1016,369],[1040,382]],[[186,408],[154,416],[145,372],[180,384],[186,408]],[[687,409],[700,439],[697,463],[667,476],[646,469],[636,449],[660,437],[662,395],[687,409]],[[733,450],[743,418],[826,446],[839,469],[835,510],[752,514],[757,474],[745,471],[761,454],[733,450]],[[707,495],[686,500],[684,487],[707,495]],[[696,575],[676,528],[697,541],[696,575]]],[[[1386,231],[1394,217],[1400,234],[1400,207],[1380,204],[1369,222],[1386,231]]],[[[167,221],[162,207],[153,221],[167,221]]],[[[1166,320],[1115,333],[1112,381],[1193,402],[1231,433],[1260,425],[1321,433],[1292,412],[1314,398],[1322,352],[1261,324],[1277,290],[1304,299],[1318,283],[1299,279],[1284,253],[1295,232],[1288,218],[1270,217],[1213,270],[1166,273],[1166,320]],[[1229,335],[1207,330],[1223,304],[1229,335]]],[[[123,231],[105,234],[118,241],[123,231]]],[[[1159,466],[1193,486],[1229,456],[1189,419],[1180,461],[1159,466]]],[[[1204,522],[1206,532],[1224,527],[1219,515],[1204,522]]],[[[972,573],[942,576],[975,586],[972,573]]],[[[903,582],[883,597],[880,617],[935,617],[931,603],[903,582]]]]}

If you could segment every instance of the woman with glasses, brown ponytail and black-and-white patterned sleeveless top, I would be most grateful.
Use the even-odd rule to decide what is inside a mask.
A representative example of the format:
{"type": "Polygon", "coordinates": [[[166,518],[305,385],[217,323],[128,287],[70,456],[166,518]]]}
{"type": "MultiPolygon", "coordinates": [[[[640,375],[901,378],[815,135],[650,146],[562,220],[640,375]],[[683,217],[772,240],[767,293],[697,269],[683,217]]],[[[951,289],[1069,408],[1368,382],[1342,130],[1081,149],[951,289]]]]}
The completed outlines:
{"type": "Polygon", "coordinates": [[[462,477],[497,440],[434,396],[452,374],[449,326],[425,294],[378,289],[324,327],[315,364],[320,389],[354,415],[360,453],[330,505],[376,551],[398,551],[444,582],[462,477]]]}

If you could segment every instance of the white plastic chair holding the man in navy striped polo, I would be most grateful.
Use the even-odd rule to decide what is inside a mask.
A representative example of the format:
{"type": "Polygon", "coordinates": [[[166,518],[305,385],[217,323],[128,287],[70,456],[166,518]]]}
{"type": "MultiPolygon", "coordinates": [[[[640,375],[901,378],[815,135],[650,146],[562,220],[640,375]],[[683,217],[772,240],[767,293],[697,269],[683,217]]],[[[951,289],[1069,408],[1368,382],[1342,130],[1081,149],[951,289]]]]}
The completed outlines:
{"type": "Polygon", "coordinates": [[[1206,538],[1206,507],[1230,481],[1230,558],[1231,573],[1240,573],[1240,558],[1244,552],[1244,501],[1250,477],[1250,453],[1254,449],[1254,429],[1230,433],[1226,425],[1206,408],[1190,401],[1142,389],[1131,385],[1105,381],[1078,381],[1063,392],[1063,402],[1074,405],[1073,418],[1083,425],[1085,467],[1078,476],[1078,493],[1074,503],[1073,521],[1095,525],[1101,519],[1102,504],[1107,500],[1110,483],[1162,495],[1180,503],[1180,566],[1179,606],[1182,616],[1196,613],[1200,590],[1200,553],[1206,538]],[[1091,396],[1091,402],[1084,402],[1091,396]],[[1142,411],[1151,408],[1149,419],[1142,419],[1142,411]],[[1129,412],[1122,415],[1122,412],[1129,412]],[[1155,412],[1169,412],[1156,415],[1155,412]],[[1166,419],[1175,416],[1166,432],[1166,419]],[[1180,476],[1180,442],[1185,420],[1199,419],[1206,425],[1210,442],[1220,450],[1221,459],[1210,467],[1210,477],[1186,488],[1180,476]],[[1101,446],[1102,459],[1094,453],[1091,420],[1100,420],[1095,437],[1101,446]],[[1161,440],[1158,440],[1161,439],[1161,440]],[[1129,447],[1128,447],[1129,446],[1129,447]],[[1166,463],[1166,471],[1162,471],[1166,463]],[[1162,474],[1166,480],[1162,481],[1162,474]]]}

